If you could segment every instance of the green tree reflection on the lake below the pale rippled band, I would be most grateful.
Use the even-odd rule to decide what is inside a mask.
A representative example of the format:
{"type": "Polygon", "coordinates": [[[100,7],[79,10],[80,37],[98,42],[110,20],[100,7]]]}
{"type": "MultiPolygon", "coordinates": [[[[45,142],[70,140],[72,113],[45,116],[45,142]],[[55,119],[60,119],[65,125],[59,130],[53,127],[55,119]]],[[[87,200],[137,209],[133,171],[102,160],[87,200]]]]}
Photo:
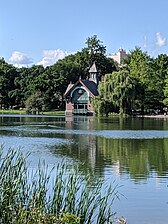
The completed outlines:
{"type": "MultiPolygon", "coordinates": [[[[70,138],[70,136],[68,136],[70,138]]],[[[135,181],[168,173],[168,139],[105,139],[95,136],[71,136],[72,144],[52,146],[55,154],[80,161],[85,169],[102,176],[111,166],[116,175],[129,173],[135,181]],[[159,149],[159,150],[158,150],[159,149]]]]}

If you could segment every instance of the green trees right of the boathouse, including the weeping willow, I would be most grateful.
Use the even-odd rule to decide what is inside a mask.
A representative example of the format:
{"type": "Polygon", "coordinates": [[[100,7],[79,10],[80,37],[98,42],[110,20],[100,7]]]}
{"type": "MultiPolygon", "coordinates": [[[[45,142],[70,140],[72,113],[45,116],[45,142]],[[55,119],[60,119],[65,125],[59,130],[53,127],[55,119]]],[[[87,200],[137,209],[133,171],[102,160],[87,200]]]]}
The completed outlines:
{"type": "Polygon", "coordinates": [[[168,56],[152,58],[136,47],[117,71],[104,76],[93,103],[98,114],[167,113],[168,56]]]}

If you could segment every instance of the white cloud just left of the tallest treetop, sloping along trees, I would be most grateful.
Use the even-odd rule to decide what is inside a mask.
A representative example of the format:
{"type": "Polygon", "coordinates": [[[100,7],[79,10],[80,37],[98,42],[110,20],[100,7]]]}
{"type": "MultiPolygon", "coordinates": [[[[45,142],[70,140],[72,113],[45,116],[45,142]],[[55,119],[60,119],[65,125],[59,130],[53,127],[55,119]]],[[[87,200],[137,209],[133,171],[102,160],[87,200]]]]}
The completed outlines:
{"type": "Polygon", "coordinates": [[[43,65],[44,67],[53,65],[59,59],[63,59],[64,57],[68,56],[70,53],[63,51],[61,49],[57,50],[44,50],[43,51],[43,58],[38,65],[43,65]]]}

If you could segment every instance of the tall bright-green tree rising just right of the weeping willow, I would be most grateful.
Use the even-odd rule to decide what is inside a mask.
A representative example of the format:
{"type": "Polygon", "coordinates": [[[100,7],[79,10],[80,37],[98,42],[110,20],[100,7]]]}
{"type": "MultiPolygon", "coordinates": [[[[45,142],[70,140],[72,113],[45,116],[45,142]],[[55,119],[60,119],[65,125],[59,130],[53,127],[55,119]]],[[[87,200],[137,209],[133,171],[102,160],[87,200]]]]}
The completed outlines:
{"type": "Polygon", "coordinates": [[[149,100],[149,96],[152,96],[154,83],[152,59],[146,52],[136,47],[135,50],[130,52],[128,58],[124,60],[124,63],[125,68],[129,71],[130,77],[137,81],[136,109],[144,113],[144,109],[147,110],[151,107],[151,99],[149,100]]]}

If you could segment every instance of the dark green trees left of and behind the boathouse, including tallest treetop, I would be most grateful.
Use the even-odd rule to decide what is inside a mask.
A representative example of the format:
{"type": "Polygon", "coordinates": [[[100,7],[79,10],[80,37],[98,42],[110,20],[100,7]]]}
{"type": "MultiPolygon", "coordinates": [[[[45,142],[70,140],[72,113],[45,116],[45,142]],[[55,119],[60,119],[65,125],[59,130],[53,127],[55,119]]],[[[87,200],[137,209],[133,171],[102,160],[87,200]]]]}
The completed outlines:
{"type": "Polygon", "coordinates": [[[0,107],[26,107],[36,113],[54,108],[64,109],[63,95],[70,82],[85,79],[95,61],[101,75],[116,70],[112,59],[105,56],[106,47],[97,36],[86,40],[86,47],[76,54],[44,68],[41,65],[16,68],[0,59],[0,107]]]}

